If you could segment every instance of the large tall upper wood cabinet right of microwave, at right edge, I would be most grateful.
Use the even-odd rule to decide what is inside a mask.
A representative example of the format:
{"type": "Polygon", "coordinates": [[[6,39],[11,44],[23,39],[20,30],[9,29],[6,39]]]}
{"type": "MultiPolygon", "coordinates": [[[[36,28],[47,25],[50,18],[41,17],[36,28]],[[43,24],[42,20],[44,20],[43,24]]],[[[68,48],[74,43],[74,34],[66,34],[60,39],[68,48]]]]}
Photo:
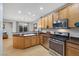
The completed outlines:
{"type": "Polygon", "coordinates": [[[79,21],[79,4],[72,4],[69,7],[69,27],[75,27],[75,23],[79,21]]]}

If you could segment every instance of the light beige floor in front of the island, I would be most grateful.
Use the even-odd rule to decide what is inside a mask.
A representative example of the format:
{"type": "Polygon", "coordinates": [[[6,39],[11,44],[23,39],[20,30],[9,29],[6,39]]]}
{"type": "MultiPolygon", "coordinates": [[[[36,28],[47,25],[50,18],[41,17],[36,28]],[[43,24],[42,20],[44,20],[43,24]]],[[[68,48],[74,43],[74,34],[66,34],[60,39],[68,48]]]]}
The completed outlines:
{"type": "Polygon", "coordinates": [[[12,47],[12,39],[4,39],[3,42],[5,56],[51,56],[49,51],[41,45],[27,49],[14,49],[12,47]]]}

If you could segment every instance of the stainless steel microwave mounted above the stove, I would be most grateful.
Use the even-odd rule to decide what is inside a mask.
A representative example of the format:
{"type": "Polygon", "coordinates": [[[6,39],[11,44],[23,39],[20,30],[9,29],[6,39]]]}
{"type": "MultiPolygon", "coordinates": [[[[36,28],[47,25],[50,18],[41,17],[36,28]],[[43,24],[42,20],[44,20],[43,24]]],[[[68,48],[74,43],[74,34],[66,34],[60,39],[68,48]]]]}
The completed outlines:
{"type": "Polygon", "coordinates": [[[68,28],[68,19],[55,20],[53,23],[54,29],[67,29],[68,28]]]}

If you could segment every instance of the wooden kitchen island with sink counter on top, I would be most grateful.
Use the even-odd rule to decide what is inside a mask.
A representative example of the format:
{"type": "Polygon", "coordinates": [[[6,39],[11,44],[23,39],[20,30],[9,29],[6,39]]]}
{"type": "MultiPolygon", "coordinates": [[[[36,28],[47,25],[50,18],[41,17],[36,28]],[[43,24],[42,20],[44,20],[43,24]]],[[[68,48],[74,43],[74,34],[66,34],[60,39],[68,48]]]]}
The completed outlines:
{"type": "Polygon", "coordinates": [[[40,44],[40,41],[37,34],[30,33],[13,35],[13,48],[24,49],[38,44],[40,44]]]}

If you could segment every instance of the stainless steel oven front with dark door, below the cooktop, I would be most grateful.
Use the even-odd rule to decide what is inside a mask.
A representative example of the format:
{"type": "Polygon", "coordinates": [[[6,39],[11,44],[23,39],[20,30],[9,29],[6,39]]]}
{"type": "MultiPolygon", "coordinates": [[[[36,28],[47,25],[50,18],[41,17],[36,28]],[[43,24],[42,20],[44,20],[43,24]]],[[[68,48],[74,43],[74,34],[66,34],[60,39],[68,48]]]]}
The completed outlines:
{"type": "Polygon", "coordinates": [[[59,40],[55,40],[50,38],[49,40],[49,48],[56,55],[65,55],[65,43],[59,40]]]}

